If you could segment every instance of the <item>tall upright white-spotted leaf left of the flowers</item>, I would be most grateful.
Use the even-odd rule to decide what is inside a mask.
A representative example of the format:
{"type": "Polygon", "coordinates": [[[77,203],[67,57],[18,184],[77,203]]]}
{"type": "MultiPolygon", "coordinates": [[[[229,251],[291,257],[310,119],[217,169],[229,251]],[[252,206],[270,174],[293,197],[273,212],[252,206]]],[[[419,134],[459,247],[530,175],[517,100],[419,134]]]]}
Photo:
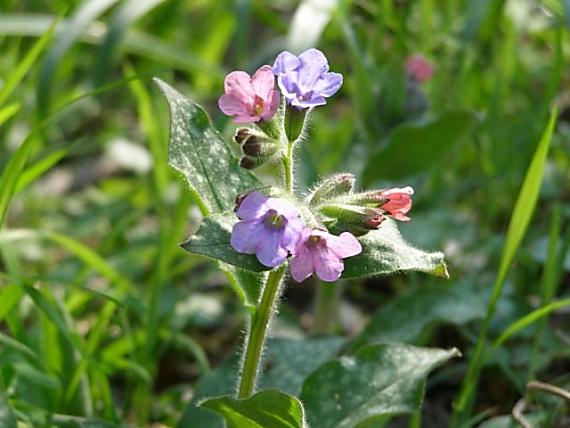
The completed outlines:
{"type": "Polygon", "coordinates": [[[231,211],[238,194],[260,186],[240,168],[207,113],[175,89],[155,79],[170,106],[169,163],[181,172],[206,214],[231,211]]]}

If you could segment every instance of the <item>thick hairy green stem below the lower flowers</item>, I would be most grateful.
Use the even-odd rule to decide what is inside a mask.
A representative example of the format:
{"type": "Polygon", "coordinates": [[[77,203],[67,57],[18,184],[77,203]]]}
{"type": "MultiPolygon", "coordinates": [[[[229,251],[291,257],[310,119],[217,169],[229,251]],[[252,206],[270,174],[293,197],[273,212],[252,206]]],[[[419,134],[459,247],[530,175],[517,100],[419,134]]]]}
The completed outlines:
{"type": "Polygon", "coordinates": [[[279,294],[281,280],[285,274],[285,267],[286,265],[282,265],[269,273],[259,306],[251,317],[249,335],[246,339],[245,354],[242,361],[238,398],[251,396],[255,389],[263,345],[271,316],[275,310],[275,302],[279,294]]]}

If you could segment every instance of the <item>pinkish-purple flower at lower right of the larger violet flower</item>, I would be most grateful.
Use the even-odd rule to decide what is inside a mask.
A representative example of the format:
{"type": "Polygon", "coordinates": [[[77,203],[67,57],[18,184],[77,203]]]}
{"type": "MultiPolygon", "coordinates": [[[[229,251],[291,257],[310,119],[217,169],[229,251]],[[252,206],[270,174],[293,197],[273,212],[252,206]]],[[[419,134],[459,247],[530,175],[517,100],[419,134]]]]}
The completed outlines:
{"type": "Polygon", "coordinates": [[[316,273],[323,281],[336,281],[344,270],[342,259],[361,252],[360,242],[349,232],[334,236],[305,228],[291,259],[291,276],[302,282],[316,273]]]}

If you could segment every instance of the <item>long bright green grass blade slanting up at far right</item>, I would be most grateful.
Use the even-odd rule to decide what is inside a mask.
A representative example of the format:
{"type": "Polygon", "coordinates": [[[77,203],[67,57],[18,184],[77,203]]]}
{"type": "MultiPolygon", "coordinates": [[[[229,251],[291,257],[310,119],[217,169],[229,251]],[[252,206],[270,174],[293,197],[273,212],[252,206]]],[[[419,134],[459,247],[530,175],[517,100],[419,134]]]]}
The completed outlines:
{"type": "Polygon", "coordinates": [[[507,231],[507,239],[503,247],[503,254],[499,265],[499,273],[495,281],[491,298],[487,305],[487,312],[479,331],[475,351],[471,357],[471,360],[469,361],[469,367],[467,369],[467,374],[463,379],[459,397],[454,404],[454,420],[452,422],[453,426],[460,425],[461,422],[465,421],[469,416],[471,407],[470,403],[473,400],[473,395],[478,384],[479,373],[483,365],[485,345],[487,342],[487,333],[491,318],[495,313],[495,307],[501,295],[509,267],[513,262],[515,253],[526,232],[526,229],[532,217],[532,213],[534,212],[536,202],[538,200],[540,186],[542,184],[544,165],[546,163],[548,149],[552,140],[552,134],[554,132],[557,115],[558,112],[556,109],[554,109],[550,115],[546,129],[542,135],[542,138],[540,139],[536,152],[527,170],[521,190],[515,203],[507,231]]]}

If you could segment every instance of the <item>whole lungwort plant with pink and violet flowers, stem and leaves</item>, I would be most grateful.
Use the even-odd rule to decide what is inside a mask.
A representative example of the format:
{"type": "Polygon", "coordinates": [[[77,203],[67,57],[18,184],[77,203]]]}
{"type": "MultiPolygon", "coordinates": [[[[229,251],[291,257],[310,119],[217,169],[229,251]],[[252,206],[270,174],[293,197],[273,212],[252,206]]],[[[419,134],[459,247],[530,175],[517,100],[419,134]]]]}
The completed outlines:
{"type": "MultiPolygon", "coordinates": [[[[295,155],[311,144],[311,111],[342,82],[316,49],[299,56],[283,52],[253,76],[228,74],[219,107],[234,122],[249,124],[235,133],[243,152],[236,159],[233,143],[224,141],[202,108],[157,80],[171,110],[170,164],[188,180],[205,217],[183,247],[216,259],[249,312],[238,379],[226,385],[235,396],[197,403],[230,427],[371,426],[417,411],[429,371],[458,355],[455,349],[366,342],[339,354],[342,339],[336,338],[318,357],[306,351],[303,360],[310,347],[298,348],[295,358],[303,366],[283,362],[280,380],[285,373],[301,377],[287,388],[263,379],[266,336],[285,278],[302,283],[316,275],[332,282],[405,271],[447,276],[442,253],[414,248],[398,232],[397,222],[410,220],[411,187],[358,191],[352,174],[338,173],[308,194],[296,192],[295,155]],[[281,186],[252,173],[268,163],[281,171],[281,186]],[[258,391],[258,385],[266,389],[258,391]]],[[[207,426],[220,423],[209,421],[207,426]]],[[[198,418],[192,422],[202,426],[198,418]]]]}

